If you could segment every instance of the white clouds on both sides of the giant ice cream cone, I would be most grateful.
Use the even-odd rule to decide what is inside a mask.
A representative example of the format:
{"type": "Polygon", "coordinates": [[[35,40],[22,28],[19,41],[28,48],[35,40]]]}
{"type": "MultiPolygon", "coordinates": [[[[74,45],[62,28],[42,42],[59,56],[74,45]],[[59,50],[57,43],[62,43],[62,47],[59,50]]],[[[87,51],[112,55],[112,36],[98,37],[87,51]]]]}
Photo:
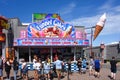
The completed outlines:
{"type": "MultiPolygon", "coordinates": [[[[106,8],[110,8],[110,6],[106,8]]],[[[119,24],[120,14],[118,14],[119,12],[120,12],[120,6],[112,7],[107,12],[107,20],[101,32],[101,35],[120,33],[120,24],[119,24]]],[[[77,26],[92,27],[96,25],[101,15],[102,14],[98,14],[98,15],[91,16],[91,17],[77,18],[77,19],[70,21],[70,23],[72,23],[73,25],[77,25],[77,26]]]]}

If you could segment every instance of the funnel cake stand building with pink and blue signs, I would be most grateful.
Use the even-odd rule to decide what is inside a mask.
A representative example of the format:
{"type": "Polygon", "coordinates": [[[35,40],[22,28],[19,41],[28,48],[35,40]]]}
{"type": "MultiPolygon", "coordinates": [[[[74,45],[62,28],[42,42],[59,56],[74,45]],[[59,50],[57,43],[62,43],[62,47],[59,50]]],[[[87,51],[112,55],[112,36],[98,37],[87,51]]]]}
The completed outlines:
{"type": "MultiPolygon", "coordinates": [[[[83,56],[83,48],[89,46],[84,26],[73,26],[56,18],[27,24],[22,24],[19,18],[9,18],[8,23],[11,24],[14,39],[11,49],[8,38],[2,44],[2,56],[5,58],[11,55],[17,56],[18,60],[24,58],[32,62],[33,55],[38,55],[42,60],[49,55],[52,62],[57,54],[65,60],[75,61],[83,56]]],[[[3,32],[8,35],[8,30],[4,29],[3,32]]]]}

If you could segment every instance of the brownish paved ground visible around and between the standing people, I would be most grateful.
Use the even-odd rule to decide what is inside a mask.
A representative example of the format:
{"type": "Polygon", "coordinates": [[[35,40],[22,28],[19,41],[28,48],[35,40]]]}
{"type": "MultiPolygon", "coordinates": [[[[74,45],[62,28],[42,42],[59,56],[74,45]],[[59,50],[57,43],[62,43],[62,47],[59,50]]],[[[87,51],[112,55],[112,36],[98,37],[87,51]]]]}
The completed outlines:
{"type": "MultiPolygon", "coordinates": [[[[106,64],[104,64],[104,65],[106,65],[106,64]]],[[[20,71],[18,72],[18,75],[20,75],[20,71]]],[[[111,80],[108,77],[109,75],[110,75],[110,67],[103,67],[103,68],[101,68],[101,71],[100,71],[100,78],[95,78],[94,76],[89,76],[89,71],[87,70],[86,74],[79,74],[77,72],[74,72],[72,75],[69,75],[69,79],[70,80],[111,80]]],[[[3,71],[3,76],[4,77],[6,76],[5,71],[3,71]]],[[[10,76],[13,77],[13,70],[11,70],[10,76]]],[[[29,71],[28,76],[29,76],[29,78],[32,78],[34,76],[33,71],[29,71]]],[[[11,79],[11,80],[13,80],[13,79],[11,79]]],[[[57,78],[54,78],[53,80],[57,80],[57,78]]],[[[64,78],[62,78],[61,80],[68,80],[67,73],[65,73],[64,78]]],[[[116,80],[120,80],[120,70],[117,71],[116,80]]]]}

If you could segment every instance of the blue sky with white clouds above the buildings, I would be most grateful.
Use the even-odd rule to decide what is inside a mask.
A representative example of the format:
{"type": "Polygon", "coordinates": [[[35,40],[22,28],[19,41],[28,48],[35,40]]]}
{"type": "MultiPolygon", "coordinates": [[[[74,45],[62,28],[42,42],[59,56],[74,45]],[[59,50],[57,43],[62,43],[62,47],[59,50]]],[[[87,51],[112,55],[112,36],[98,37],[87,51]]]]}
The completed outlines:
{"type": "Polygon", "coordinates": [[[106,24],[93,45],[120,41],[120,0],[0,0],[2,16],[30,23],[32,13],[58,13],[65,22],[86,28],[95,26],[106,13],[106,24]]]}

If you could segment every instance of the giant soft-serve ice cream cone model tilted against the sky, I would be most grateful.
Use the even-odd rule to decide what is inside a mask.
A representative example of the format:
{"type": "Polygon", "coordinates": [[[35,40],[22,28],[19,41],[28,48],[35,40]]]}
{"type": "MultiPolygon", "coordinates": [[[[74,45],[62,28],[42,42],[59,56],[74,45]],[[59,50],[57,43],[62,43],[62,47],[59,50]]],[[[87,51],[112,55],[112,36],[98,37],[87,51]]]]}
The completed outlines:
{"type": "Polygon", "coordinates": [[[99,33],[102,31],[102,29],[103,29],[103,27],[104,27],[104,25],[105,25],[105,22],[106,22],[106,13],[104,13],[104,14],[100,17],[98,23],[97,23],[96,26],[95,26],[94,39],[93,39],[93,40],[95,40],[96,37],[99,35],[99,33]]]}

